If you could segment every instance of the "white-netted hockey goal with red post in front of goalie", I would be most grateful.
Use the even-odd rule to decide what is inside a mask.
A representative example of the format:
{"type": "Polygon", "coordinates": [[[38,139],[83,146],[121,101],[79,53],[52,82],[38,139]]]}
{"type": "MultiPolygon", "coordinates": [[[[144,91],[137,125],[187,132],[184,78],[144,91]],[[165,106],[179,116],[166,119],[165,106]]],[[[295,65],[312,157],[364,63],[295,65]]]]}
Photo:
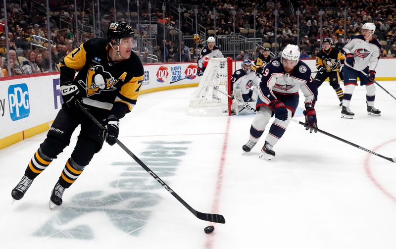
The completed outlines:
{"type": "Polygon", "coordinates": [[[197,92],[190,100],[189,115],[231,115],[232,100],[216,89],[231,95],[231,58],[211,58],[199,82],[197,92]]]}

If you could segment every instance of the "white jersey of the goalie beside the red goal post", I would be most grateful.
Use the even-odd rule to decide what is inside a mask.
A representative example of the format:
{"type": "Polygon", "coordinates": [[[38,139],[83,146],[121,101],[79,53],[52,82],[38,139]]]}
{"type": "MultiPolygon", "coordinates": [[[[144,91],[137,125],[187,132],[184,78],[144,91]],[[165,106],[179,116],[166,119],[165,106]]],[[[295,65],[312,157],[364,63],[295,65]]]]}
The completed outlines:
{"type": "Polygon", "coordinates": [[[241,89],[242,94],[248,94],[252,86],[258,88],[260,78],[254,71],[245,72],[243,69],[239,69],[231,76],[231,91],[235,89],[241,89]]]}

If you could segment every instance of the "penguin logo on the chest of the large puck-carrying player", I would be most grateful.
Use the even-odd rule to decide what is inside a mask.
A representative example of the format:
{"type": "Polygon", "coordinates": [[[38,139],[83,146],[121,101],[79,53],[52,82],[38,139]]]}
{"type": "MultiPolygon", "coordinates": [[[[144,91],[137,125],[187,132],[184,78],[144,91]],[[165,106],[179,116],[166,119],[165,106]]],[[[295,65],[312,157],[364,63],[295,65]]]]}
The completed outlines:
{"type": "Polygon", "coordinates": [[[116,90],[114,85],[118,80],[109,73],[103,70],[101,65],[91,65],[88,70],[86,83],[79,80],[80,83],[87,90],[87,97],[99,94],[101,91],[113,91],[116,90]]]}

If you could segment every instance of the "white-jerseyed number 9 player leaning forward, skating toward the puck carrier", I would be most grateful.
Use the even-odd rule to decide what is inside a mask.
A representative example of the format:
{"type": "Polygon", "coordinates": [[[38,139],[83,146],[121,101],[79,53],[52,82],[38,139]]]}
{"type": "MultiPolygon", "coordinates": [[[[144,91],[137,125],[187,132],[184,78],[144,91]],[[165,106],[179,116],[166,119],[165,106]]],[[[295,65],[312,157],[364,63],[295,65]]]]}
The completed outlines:
{"type": "MultiPolygon", "coordinates": [[[[316,111],[314,109],[314,92],[317,91],[313,83],[311,70],[299,60],[300,51],[296,45],[288,45],[282,51],[282,56],[268,63],[259,85],[259,95],[256,104],[257,115],[250,127],[249,141],[242,147],[249,152],[258,142],[271,116],[275,115],[259,158],[271,160],[275,156],[273,146],[285,133],[290,119],[298,105],[298,90],[305,97],[303,111],[307,128],[316,128],[316,111]]],[[[312,132],[312,129],[310,129],[312,132]]]]}

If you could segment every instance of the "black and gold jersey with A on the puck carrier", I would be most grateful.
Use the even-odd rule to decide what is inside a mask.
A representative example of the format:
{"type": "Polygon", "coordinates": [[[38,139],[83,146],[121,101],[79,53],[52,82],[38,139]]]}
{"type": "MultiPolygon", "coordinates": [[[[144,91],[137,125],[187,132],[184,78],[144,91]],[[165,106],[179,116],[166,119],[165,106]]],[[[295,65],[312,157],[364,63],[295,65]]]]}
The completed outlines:
{"type": "Polygon", "coordinates": [[[118,118],[130,112],[138,99],[144,69],[139,57],[112,61],[106,39],[91,39],[60,62],[60,85],[74,81],[85,107],[111,110],[118,118]],[[79,70],[73,80],[75,70],[79,70]]]}

